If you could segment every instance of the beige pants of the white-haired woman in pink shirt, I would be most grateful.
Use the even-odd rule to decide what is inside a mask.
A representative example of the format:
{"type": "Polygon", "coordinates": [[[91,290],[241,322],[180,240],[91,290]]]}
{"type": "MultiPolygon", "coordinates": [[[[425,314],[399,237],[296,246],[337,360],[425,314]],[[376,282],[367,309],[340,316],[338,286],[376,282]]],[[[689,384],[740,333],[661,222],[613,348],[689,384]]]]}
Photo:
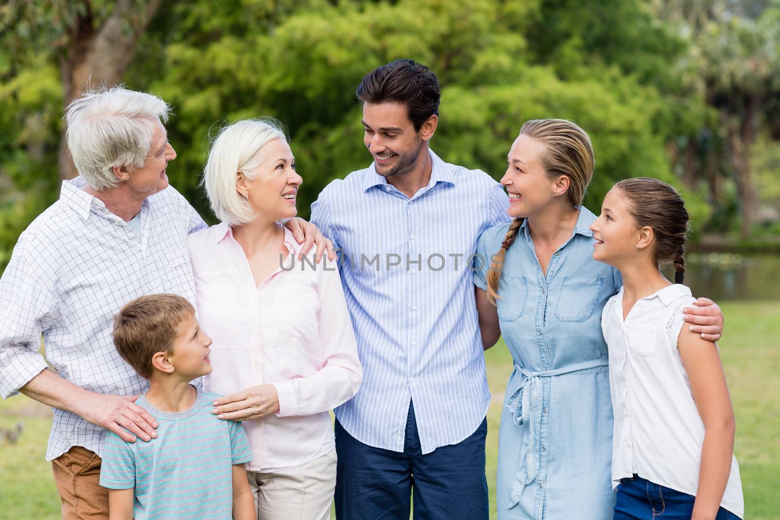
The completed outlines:
{"type": "Polygon", "coordinates": [[[261,520],[328,520],[336,485],[336,451],[278,472],[246,472],[261,520]]]}

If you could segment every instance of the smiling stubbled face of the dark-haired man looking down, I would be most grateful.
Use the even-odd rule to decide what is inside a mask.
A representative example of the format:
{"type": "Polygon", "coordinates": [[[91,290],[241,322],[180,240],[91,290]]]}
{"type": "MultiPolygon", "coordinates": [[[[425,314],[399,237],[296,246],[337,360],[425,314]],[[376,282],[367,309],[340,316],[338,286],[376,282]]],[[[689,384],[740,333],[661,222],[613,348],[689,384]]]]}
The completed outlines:
{"type": "Polygon", "coordinates": [[[403,175],[414,169],[424,139],[414,129],[405,104],[363,103],[362,122],[363,143],[374,157],[379,175],[403,175]]]}

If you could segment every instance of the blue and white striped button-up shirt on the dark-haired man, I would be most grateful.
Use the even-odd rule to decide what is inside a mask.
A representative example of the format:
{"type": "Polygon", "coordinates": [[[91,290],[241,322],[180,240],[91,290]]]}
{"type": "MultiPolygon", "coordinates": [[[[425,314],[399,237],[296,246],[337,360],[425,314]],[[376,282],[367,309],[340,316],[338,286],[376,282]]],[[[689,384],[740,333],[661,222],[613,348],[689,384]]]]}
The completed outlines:
{"type": "Polygon", "coordinates": [[[430,153],[431,181],[411,198],[372,163],[311,207],[340,249],[363,365],[360,390],[335,415],[363,444],[403,451],[411,400],[424,454],[469,437],[488,411],[471,264],[480,234],[510,220],[498,182],[430,153]]]}

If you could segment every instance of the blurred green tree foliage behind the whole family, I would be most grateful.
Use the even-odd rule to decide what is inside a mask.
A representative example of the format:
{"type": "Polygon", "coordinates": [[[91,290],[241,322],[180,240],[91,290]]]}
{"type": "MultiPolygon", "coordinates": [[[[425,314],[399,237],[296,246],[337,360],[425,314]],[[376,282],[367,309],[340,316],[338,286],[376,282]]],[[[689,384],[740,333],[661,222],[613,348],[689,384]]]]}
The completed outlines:
{"type": "Polygon", "coordinates": [[[760,91],[750,129],[763,155],[753,176],[771,185],[764,202],[778,207],[780,182],[767,175],[780,149],[771,125],[780,114],[778,0],[9,0],[0,6],[0,268],[67,176],[57,156],[63,103],[75,95],[68,59],[120,7],[126,34],[151,4],[122,80],[172,104],[179,158],[168,176],[207,220],[197,183],[215,129],[257,115],[281,120],[306,218],[330,180],[370,161],[354,90],[399,57],[438,74],[432,147],[446,161],[498,179],[523,122],[573,119],[597,157],[588,207],[616,180],[650,175],[683,191],[697,232],[745,220],[753,230],[745,216],[757,195],[740,199],[727,119],[746,120],[741,100],[760,91]],[[725,42],[720,55],[712,41],[725,42]],[[753,65],[740,69],[746,60],[753,65]]]}

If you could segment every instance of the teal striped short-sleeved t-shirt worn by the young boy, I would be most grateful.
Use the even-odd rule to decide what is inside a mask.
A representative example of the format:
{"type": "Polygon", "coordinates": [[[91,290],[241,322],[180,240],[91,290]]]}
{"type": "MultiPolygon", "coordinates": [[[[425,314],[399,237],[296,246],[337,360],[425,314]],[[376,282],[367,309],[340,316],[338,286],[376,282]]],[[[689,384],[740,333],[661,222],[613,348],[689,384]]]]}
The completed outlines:
{"type": "Polygon", "coordinates": [[[219,394],[196,387],[185,412],[154,409],[146,394],[136,401],[159,424],[158,437],[126,443],[108,433],[100,484],[112,490],[135,487],[134,517],[232,518],[232,465],[252,460],[241,423],[211,415],[219,394]]]}

